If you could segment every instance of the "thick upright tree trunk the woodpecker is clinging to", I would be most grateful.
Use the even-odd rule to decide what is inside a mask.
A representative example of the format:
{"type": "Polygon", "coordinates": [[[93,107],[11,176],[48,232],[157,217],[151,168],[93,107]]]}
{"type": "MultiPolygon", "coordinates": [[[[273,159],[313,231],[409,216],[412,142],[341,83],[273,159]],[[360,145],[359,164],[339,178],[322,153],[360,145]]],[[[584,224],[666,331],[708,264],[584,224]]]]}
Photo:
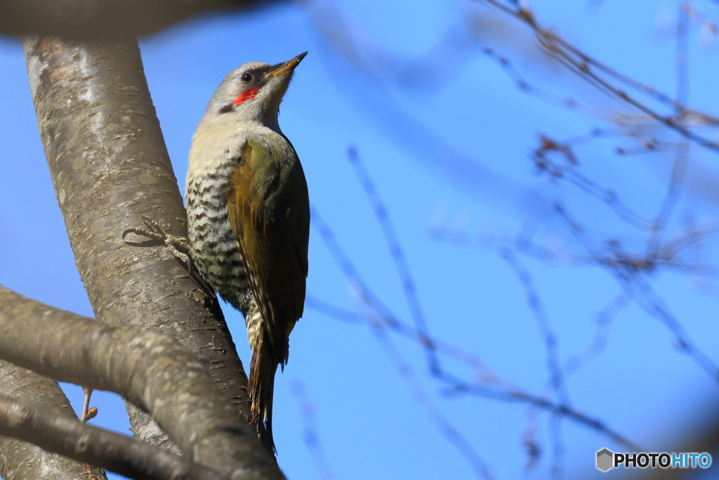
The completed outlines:
{"type": "MultiPolygon", "coordinates": [[[[97,320],[152,326],[192,350],[247,418],[247,376],[219,304],[162,245],[126,245],[141,215],[186,235],[186,212],[137,41],[23,41],[50,175],[97,320]]],[[[156,429],[131,417],[136,436],[156,429]]],[[[247,424],[249,425],[249,423],[247,424]]]]}

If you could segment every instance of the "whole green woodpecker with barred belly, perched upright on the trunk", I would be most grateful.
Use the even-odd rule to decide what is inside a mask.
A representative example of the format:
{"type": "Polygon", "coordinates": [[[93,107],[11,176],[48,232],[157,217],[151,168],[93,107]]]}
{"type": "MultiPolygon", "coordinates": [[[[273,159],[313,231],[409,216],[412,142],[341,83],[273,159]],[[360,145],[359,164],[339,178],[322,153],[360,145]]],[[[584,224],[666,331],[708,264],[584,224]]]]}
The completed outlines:
{"type": "Polygon", "coordinates": [[[251,420],[271,452],[275,372],[302,316],[310,223],[305,176],[278,113],[306,54],[225,76],[192,137],[186,184],[191,258],[244,315],[251,420]]]}

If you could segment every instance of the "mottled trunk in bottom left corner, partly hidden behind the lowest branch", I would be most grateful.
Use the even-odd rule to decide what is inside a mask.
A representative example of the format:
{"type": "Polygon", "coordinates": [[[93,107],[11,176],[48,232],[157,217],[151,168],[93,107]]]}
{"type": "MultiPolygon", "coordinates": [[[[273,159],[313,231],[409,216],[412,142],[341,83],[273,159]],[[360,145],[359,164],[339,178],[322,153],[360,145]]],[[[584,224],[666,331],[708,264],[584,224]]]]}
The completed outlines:
{"type": "MultiPolygon", "coordinates": [[[[0,379],[0,395],[32,399],[38,405],[51,407],[55,415],[77,420],[58,382],[5,361],[0,361],[0,379]]],[[[0,476],[14,480],[106,479],[101,468],[11,437],[0,437],[0,476]]]]}

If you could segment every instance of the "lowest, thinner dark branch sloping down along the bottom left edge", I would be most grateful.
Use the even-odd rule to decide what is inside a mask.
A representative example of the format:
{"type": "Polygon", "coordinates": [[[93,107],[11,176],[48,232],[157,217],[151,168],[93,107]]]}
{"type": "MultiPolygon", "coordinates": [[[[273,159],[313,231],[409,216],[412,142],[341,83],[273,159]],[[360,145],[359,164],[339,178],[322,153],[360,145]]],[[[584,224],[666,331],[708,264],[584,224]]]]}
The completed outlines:
{"type": "Polygon", "coordinates": [[[47,451],[78,461],[99,463],[130,479],[227,480],[211,468],[199,466],[155,445],[81,423],[56,409],[2,395],[0,434],[40,445],[47,451]]]}

